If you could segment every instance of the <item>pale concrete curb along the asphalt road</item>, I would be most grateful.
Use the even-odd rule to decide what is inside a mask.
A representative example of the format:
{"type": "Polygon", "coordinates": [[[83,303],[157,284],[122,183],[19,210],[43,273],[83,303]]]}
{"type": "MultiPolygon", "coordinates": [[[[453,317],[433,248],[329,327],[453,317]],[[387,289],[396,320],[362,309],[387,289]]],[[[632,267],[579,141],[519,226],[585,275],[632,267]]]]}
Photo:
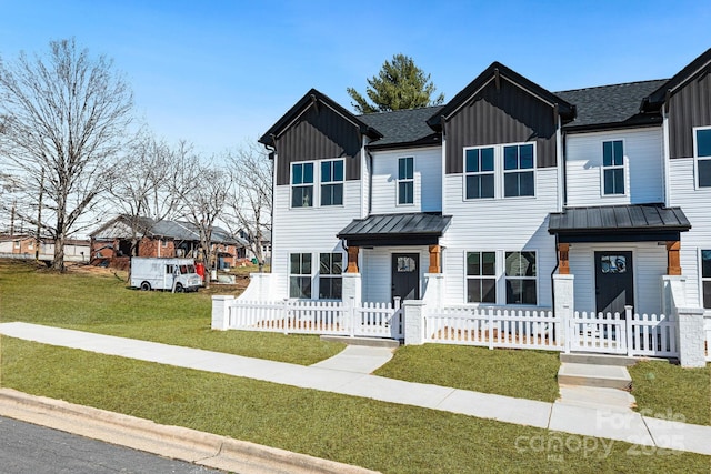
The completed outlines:
{"type": "Polygon", "coordinates": [[[0,389],[0,415],[243,474],[367,474],[362,467],[150,420],[0,389]]]}

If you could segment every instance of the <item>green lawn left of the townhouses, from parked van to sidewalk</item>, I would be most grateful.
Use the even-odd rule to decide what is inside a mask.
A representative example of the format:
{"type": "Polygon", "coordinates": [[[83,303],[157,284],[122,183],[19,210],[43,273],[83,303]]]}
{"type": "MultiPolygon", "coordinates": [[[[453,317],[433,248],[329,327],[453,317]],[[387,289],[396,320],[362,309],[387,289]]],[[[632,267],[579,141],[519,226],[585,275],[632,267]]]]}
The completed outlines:
{"type": "Polygon", "coordinates": [[[310,365],[344,345],[314,335],[211,331],[210,295],[130,290],[126,272],[73,268],[56,274],[33,262],[0,260],[0,322],[23,321],[310,365]]]}

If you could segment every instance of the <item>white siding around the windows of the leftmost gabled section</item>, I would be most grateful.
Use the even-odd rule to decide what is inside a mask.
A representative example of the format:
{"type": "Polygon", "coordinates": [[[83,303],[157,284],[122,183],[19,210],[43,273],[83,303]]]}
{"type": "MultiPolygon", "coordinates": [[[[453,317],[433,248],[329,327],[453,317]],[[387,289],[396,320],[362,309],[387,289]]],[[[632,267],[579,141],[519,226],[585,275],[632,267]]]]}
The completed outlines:
{"type": "MultiPolygon", "coordinates": [[[[318,183],[314,184],[317,186],[318,183]]],[[[280,185],[274,190],[274,218],[272,234],[272,273],[289,275],[290,253],[346,252],[336,238],[353,219],[361,216],[360,181],[346,181],[343,184],[343,205],[291,209],[291,186],[280,185]]],[[[313,272],[318,270],[318,260],[312,260],[313,272]]],[[[276,294],[289,296],[289,279],[278,279],[276,294]]]]}

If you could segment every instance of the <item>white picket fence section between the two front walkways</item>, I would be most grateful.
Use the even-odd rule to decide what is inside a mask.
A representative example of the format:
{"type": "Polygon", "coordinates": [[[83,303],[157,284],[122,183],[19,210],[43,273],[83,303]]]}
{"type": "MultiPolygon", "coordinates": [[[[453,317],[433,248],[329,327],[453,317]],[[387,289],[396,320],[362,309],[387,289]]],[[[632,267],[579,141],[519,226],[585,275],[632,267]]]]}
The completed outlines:
{"type": "Polygon", "coordinates": [[[424,341],[440,344],[562,351],[562,332],[552,311],[461,306],[424,315],[424,341]]]}

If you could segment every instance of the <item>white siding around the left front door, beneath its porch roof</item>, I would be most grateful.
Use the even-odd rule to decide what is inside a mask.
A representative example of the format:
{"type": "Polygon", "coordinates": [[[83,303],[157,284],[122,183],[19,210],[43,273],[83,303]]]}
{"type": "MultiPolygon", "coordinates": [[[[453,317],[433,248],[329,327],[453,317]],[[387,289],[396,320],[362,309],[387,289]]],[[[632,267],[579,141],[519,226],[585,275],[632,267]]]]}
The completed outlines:
{"type": "Polygon", "coordinates": [[[392,300],[392,254],[420,254],[420,297],[422,280],[430,265],[429,250],[423,246],[379,246],[361,250],[362,299],[368,302],[389,302],[392,300]]]}

